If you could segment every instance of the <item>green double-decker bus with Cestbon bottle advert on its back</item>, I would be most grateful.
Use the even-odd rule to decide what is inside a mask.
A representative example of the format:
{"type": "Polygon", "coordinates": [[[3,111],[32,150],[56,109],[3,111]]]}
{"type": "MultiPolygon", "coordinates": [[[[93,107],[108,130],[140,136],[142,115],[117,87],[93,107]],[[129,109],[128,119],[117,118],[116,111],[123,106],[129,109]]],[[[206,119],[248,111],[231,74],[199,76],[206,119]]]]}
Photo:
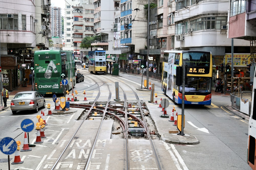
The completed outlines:
{"type": "Polygon", "coordinates": [[[34,54],[35,91],[41,94],[64,94],[61,65],[66,64],[66,90],[76,85],[74,56],[71,51],[40,50],[34,54]],[[62,76],[61,76],[62,75],[62,76]],[[72,80],[72,81],[71,81],[72,80]]]}

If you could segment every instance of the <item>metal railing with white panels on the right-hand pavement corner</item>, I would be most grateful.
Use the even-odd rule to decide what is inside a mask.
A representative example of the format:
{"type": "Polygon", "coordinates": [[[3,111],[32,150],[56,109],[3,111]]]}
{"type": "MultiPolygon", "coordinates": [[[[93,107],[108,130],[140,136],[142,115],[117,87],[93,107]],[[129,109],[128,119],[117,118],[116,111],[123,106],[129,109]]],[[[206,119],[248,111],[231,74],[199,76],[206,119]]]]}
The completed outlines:
{"type": "Polygon", "coordinates": [[[251,91],[242,91],[235,92],[230,94],[231,107],[245,113],[247,115],[251,115],[251,91]]]}

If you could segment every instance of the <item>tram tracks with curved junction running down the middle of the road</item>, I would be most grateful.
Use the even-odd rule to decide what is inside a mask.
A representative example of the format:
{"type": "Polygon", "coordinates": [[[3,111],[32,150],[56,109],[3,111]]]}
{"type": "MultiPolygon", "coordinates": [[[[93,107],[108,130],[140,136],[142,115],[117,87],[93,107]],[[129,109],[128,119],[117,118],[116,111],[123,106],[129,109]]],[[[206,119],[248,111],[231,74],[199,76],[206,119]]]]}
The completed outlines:
{"type": "Polygon", "coordinates": [[[84,111],[78,118],[79,126],[59,157],[55,158],[51,169],[71,166],[76,151],[83,158],[77,159],[77,169],[137,169],[147,166],[162,169],[152,142],[153,138],[158,139],[157,132],[148,127],[153,123],[149,123],[152,120],[145,103],[141,103],[131,87],[116,78],[101,75],[93,76],[91,80],[95,81],[91,89],[97,89],[97,95],[94,91],[95,99],[89,104],[70,104],[70,107],[84,111]],[[114,81],[120,82],[123,100],[111,100],[115,90],[109,84],[114,81]],[[100,101],[102,99],[106,101],[100,101]],[[83,140],[86,142],[81,146],[79,143],[83,140]]]}

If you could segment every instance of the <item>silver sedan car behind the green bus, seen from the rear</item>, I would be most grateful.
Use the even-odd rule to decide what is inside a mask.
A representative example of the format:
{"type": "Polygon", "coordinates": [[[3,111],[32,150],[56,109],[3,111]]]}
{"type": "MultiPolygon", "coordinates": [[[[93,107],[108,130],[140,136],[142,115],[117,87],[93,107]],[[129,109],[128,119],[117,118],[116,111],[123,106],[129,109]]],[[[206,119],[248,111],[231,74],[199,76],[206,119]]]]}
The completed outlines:
{"type": "Polygon", "coordinates": [[[33,110],[38,112],[38,108],[45,108],[45,98],[37,91],[18,92],[11,101],[11,111],[33,110]]]}

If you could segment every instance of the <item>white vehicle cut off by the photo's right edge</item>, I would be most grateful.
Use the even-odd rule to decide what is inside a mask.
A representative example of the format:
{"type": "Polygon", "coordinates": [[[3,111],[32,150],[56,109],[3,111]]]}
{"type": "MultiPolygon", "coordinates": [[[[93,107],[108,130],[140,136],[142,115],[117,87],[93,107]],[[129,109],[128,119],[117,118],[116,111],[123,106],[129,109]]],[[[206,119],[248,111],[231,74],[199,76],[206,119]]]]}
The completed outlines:
{"type": "Polygon", "coordinates": [[[256,104],[254,104],[254,99],[256,99],[256,77],[253,77],[253,89],[252,89],[252,100],[251,100],[251,116],[249,119],[249,131],[248,131],[248,156],[247,162],[252,169],[256,169],[256,104]]]}

